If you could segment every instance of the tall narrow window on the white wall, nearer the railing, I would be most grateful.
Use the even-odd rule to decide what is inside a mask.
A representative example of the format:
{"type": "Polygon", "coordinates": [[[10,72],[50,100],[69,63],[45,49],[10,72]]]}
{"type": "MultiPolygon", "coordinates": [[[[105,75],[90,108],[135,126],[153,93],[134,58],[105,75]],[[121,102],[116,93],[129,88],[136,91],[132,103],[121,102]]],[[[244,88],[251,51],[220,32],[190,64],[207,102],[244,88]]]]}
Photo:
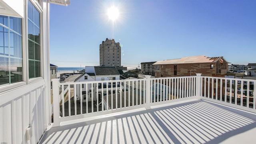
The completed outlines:
{"type": "Polygon", "coordinates": [[[40,13],[28,0],[28,73],[29,78],[41,76],[40,13]]]}

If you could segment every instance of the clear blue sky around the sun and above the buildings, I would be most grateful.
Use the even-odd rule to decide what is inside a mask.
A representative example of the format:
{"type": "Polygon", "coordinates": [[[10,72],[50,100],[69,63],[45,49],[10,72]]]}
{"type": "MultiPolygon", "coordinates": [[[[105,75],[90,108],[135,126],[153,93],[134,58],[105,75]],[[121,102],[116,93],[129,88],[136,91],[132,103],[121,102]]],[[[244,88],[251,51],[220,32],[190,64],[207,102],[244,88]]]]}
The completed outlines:
{"type": "Polygon", "coordinates": [[[256,63],[256,0],[70,0],[50,4],[50,62],[99,65],[106,38],[122,45],[122,65],[184,56],[223,56],[256,63]],[[110,6],[119,9],[114,23],[110,6]],[[113,36],[114,33],[114,36],[113,36]]]}

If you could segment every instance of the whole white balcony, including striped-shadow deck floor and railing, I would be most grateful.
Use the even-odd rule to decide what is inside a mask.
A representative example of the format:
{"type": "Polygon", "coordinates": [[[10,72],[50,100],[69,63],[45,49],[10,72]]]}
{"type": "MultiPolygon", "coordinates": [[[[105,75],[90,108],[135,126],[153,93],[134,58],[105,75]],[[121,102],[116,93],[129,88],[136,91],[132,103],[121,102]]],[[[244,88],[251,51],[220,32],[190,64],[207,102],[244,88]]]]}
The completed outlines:
{"type": "Polygon", "coordinates": [[[252,143],[255,82],[200,74],[54,79],[53,123],[40,143],[252,143]]]}

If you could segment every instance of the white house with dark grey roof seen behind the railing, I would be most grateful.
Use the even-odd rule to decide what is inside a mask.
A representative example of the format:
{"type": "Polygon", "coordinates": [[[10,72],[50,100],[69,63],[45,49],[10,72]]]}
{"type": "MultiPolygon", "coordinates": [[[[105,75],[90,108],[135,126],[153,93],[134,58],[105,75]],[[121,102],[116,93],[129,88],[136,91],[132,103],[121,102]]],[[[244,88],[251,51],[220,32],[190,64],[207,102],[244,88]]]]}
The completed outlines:
{"type": "MultiPolygon", "coordinates": [[[[87,81],[104,81],[104,80],[120,80],[120,74],[116,67],[113,66],[86,66],[85,67],[85,72],[81,74],[74,82],[87,82],[87,81]]],[[[82,84],[82,90],[80,90],[80,87],[76,88],[76,99],[80,100],[81,98],[78,97],[80,96],[80,92],[82,91],[82,102],[86,102],[86,95],[88,94],[88,102],[92,101],[92,92],[94,92],[94,96],[96,96],[96,91],[92,90],[92,87],[95,88],[98,86],[99,91],[98,91],[98,96],[99,100],[101,100],[101,95],[102,95],[102,90],[103,88],[103,93],[106,95],[106,88],[111,86],[111,84],[116,87],[115,82],[100,82],[98,84],[95,84],[91,86],[91,84],[82,84]],[[103,83],[103,85],[102,85],[103,83]],[[86,90],[87,88],[87,90],[86,90]]],[[[117,83],[118,89],[120,89],[120,83],[117,83]]],[[[115,88],[113,88],[113,93],[116,91],[115,88]]],[[[109,90],[108,94],[111,94],[112,91],[109,90]]],[[[93,98],[96,100],[96,98],[93,98]]]]}

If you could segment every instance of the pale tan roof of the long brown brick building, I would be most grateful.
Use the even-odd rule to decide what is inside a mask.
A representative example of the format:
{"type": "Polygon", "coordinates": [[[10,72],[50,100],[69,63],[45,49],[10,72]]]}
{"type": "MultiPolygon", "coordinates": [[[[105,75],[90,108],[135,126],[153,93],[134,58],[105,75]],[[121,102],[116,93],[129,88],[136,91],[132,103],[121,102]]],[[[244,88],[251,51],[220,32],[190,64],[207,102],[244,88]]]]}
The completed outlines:
{"type": "Polygon", "coordinates": [[[158,62],[154,63],[154,65],[159,65],[159,64],[211,63],[211,62],[216,62],[217,60],[224,61],[225,59],[223,57],[209,58],[207,56],[188,56],[188,57],[184,57],[184,58],[158,61],[158,62]]]}

